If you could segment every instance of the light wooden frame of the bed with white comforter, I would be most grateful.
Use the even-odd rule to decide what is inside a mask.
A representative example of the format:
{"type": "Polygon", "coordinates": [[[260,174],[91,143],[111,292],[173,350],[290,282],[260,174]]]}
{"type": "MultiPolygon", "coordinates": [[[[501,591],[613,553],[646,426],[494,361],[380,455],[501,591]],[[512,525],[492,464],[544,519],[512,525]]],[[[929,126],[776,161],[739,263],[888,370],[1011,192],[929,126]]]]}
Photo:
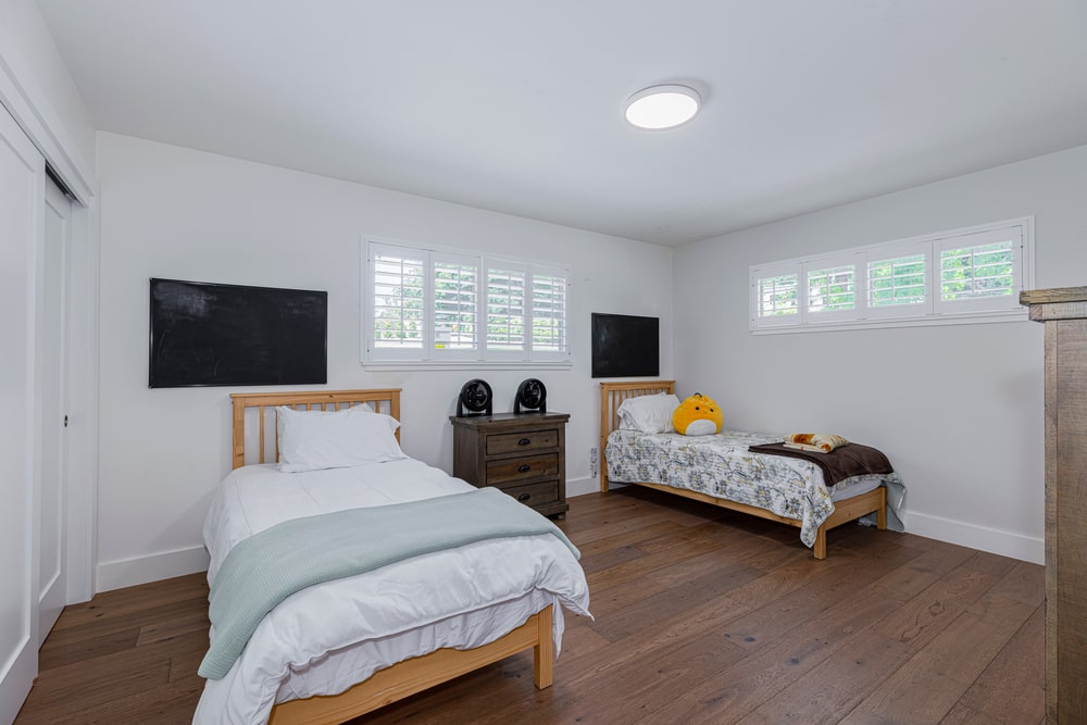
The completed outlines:
{"type": "MultiPolygon", "coordinates": [[[[233,466],[235,468],[247,463],[278,460],[276,405],[289,405],[296,410],[336,411],[365,402],[375,411],[400,420],[400,388],[246,392],[232,393],[230,398],[234,401],[233,466]],[[247,420],[255,421],[248,437],[247,420]]],[[[400,439],[399,430],[397,439],[400,439]]],[[[539,689],[550,687],[554,662],[551,607],[548,605],[532,615],[523,625],[489,645],[471,650],[436,650],[379,670],[368,679],[339,695],[316,696],[279,703],[273,708],[268,723],[272,725],[342,723],[527,649],[533,650],[535,671],[533,682],[539,689]]]]}

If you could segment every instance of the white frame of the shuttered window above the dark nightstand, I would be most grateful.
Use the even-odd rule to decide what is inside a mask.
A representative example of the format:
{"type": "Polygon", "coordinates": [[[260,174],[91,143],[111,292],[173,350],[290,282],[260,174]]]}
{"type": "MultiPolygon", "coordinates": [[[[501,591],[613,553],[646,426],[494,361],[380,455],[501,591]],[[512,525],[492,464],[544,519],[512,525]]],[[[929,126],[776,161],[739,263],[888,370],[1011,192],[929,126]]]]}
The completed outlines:
{"type": "Polygon", "coordinates": [[[363,237],[361,241],[360,360],[367,370],[479,370],[479,368],[561,368],[573,366],[571,350],[571,280],[569,266],[524,258],[417,242],[363,237]],[[375,299],[375,274],[378,257],[421,260],[423,267],[423,315],[418,346],[378,347],[376,342],[378,305],[375,299]],[[471,347],[437,347],[436,328],[438,264],[458,264],[475,270],[475,340],[471,347]],[[524,347],[497,349],[488,340],[488,288],[491,270],[524,276],[522,337],[524,347]],[[533,301],[537,276],[558,277],[563,287],[562,316],[559,324],[559,350],[536,349],[533,341],[533,301]]]}

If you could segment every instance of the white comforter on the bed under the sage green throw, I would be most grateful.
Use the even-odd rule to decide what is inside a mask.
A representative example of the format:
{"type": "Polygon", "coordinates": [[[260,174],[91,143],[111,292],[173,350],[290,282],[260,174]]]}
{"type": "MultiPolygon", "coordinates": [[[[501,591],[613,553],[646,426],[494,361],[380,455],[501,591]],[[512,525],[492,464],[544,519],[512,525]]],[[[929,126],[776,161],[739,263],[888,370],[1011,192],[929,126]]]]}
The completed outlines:
{"type": "MultiPolygon", "coordinates": [[[[234,545],[282,521],[465,490],[412,459],[291,474],[238,468],[204,523],[208,580],[234,545]]],[[[208,680],[193,723],[265,723],[276,702],[335,695],[439,648],[486,645],[548,604],[558,649],[558,604],[588,614],[588,599],[580,565],[551,535],[482,541],[310,587],[264,617],[226,677],[208,680]]]]}

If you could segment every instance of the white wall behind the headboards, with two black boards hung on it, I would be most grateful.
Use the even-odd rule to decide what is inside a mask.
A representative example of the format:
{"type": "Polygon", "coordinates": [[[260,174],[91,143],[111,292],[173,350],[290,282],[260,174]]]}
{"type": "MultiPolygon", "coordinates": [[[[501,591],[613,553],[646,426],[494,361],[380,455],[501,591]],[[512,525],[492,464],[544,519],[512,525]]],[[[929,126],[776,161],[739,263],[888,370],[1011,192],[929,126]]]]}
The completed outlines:
{"type": "Polygon", "coordinates": [[[658,315],[672,372],[672,249],[364,187],[225,157],[99,134],[101,416],[99,589],[200,571],[200,528],[229,471],[232,388],[148,389],[148,278],[328,290],[328,387],[403,388],[404,450],[447,471],[467,372],[367,373],[359,363],[360,240],[377,235],[570,264],[569,372],[483,374],[496,410],[539,377],[549,410],[571,414],[571,492],[595,490],[599,388],[589,313],[658,315]]]}

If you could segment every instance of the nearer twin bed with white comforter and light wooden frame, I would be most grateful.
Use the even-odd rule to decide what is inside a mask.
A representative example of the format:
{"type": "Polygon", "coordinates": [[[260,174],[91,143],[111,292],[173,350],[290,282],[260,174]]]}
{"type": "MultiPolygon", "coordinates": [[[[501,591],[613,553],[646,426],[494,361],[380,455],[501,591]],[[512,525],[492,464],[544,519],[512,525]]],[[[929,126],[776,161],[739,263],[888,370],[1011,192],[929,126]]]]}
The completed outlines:
{"type": "MultiPolygon", "coordinates": [[[[536,686],[551,685],[562,607],[588,614],[588,587],[576,550],[547,532],[471,541],[309,586],[271,608],[248,645],[241,641],[235,660],[229,653],[221,657],[218,646],[235,639],[235,624],[222,618],[229,602],[216,598],[225,597],[232,576],[252,571],[249,563],[235,564],[232,554],[241,553],[258,535],[292,526],[298,517],[327,522],[348,511],[366,514],[367,509],[384,517],[411,502],[438,502],[440,515],[453,512],[450,507],[458,500],[479,501],[488,510],[501,509],[504,501],[486,495],[508,498],[403,455],[396,445],[399,389],[232,398],[234,471],[217,490],[204,526],[211,553],[212,648],[201,664],[209,678],[195,723],[341,723],[527,649],[534,650],[536,686]],[[285,408],[335,416],[299,416],[285,408]],[[307,429],[313,424],[320,425],[307,429]],[[329,450],[329,445],[302,436],[311,433],[330,440],[333,449],[337,442],[350,446],[346,436],[354,436],[361,448],[329,450]],[[279,470],[287,461],[280,454],[287,451],[290,473],[279,470]],[[345,454],[358,460],[329,465],[345,454]]],[[[553,526],[509,501],[517,510],[514,517],[524,510],[553,526]]],[[[430,509],[434,515],[435,507],[430,509]]],[[[373,517],[363,522],[355,525],[359,536],[380,523],[373,517]]],[[[426,528],[442,525],[437,518],[426,528]]],[[[290,543],[284,553],[289,557],[291,548],[308,545],[314,551],[325,548],[324,530],[303,532],[296,539],[301,543],[290,543]]],[[[386,541],[366,546],[380,549],[386,541]]],[[[304,563],[309,553],[300,555],[304,563]]],[[[241,595],[250,586],[241,584],[241,595]]]]}

